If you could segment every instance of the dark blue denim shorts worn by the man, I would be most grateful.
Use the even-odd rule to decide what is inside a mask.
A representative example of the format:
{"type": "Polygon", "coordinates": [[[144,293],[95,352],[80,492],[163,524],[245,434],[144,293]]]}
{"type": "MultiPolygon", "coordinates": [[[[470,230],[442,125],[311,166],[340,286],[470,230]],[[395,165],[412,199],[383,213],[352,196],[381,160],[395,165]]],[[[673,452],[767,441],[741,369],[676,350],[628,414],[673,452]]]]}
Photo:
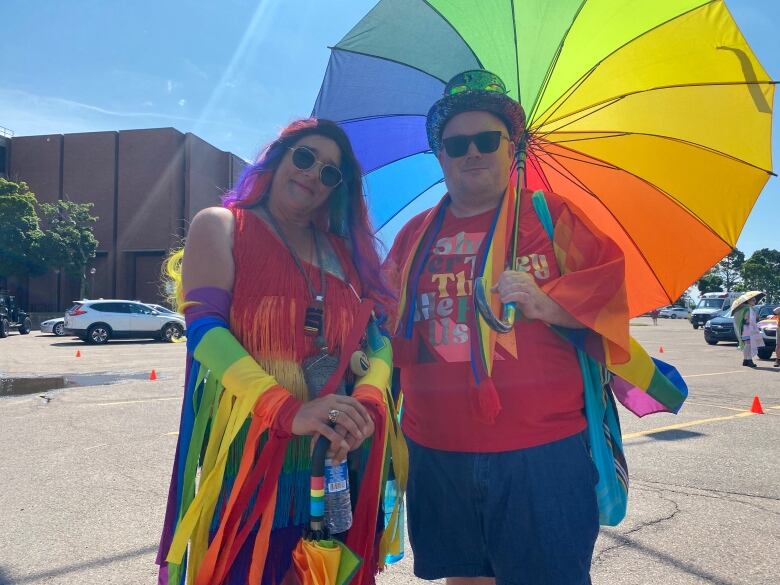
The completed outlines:
{"type": "Polygon", "coordinates": [[[590,584],[598,472],[585,432],[502,453],[408,443],[408,526],[417,577],[590,584]]]}

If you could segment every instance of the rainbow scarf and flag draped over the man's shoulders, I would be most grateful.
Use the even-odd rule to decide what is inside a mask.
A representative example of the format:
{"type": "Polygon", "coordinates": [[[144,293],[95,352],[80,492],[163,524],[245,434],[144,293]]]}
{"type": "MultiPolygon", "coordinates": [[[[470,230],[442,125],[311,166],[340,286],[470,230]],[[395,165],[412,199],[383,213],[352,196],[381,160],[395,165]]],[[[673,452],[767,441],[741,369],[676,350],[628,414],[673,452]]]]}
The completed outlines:
{"type": "MultiPolygon", "coordinates": [[[[486,287],[492,286],[506,268],[509,252],[516,190],[510,185],[485,236],[475,274],[482,275],[486,287]]],[[[399,271],[398,321],[396,337],[411,339],[414,327],[417,284],[449,205],[445,195],[438,205],[427,212],[411,240],[413,253],[399,271]]],[[[654,412],[676,413],[687,397],[687,387],[677,370],[651,358],[628,334],[628,309],[625,288],[618,287],[610,298],[604,297],[604,285],[623,282],[622,255],[606,259],[603,265],[592,266],[594,229],[584,224],[568,207],[551,227],[555,257],[561,278],[548,283],[542,290],[580,321],[585,329],[553,327],[578,349],[585,351],[614,374],[613,390],[618,400],[637,416],[654,412]],[[594,300],[595,299],[595,300],[594,300]]],[[[580,215],[581,218],[581,215],[580,215]]],[[[596,230],[595,233],[598,233],[596,230]]],[[[521,240],[522,241],[522,240],[521,240]]],[[[491,307],[500,314],[498,295],[491,295],[491,307]]],[[[501,409],[500,399],[491,379],[493,354],[499,334],[490,329],[478,311],[473,311],[469,327],[471,336],[471,371],[477,393],[477,415],[493,422],[501,409]]],[[[506,335],[514,335],[510,332],[506,335]]]]}

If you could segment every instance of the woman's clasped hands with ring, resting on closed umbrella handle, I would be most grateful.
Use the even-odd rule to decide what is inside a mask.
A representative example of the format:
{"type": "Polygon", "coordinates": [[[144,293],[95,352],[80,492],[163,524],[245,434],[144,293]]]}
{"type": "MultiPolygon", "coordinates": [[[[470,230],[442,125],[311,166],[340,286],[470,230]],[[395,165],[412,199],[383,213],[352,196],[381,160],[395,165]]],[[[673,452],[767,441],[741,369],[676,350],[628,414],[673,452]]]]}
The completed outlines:
{"type": "Polygon", "coordinates": [[[356,449],[366,437],[374,432],[374,422],[366,408],[351,396],[330,394],[306,402],[298,410],[292,424],[296,435],[318,435],[330,441],[331,459],[343,461],[347,453],[356,449]],[[330,413],[334,412],[335,421],[330,413]],[[331,423],[335,422],[335,426],[331,423]]]}

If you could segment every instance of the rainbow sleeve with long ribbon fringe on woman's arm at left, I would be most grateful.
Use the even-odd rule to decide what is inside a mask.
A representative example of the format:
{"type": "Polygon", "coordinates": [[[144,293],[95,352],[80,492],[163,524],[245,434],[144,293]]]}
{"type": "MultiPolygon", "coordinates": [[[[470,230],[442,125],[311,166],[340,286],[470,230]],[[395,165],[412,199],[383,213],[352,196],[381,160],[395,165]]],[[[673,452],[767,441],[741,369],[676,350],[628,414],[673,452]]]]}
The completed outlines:
{"type": "MultiPolygon", "coordinates": [[[[228,449],[253,410],[272,426],[282,406],[300,405],[261,368],[230,333],[227,291],[203,288],[187,295],[187,387],[174,476],[158,553],[160,581],[179,583],[190,544],[189,581],[208,547],[208,528],[222,487],[228,449]],[[274,396],[273,401],[260,400],[274,396]],[[281,400],[280,400],[281,398],[281,400]],[[273,405],[263,409],[264,402],[273,405]],[[206,431],[208,440],[203,453],[206,431]],[[195,476],[201,466],[199,489],[195,476]],[[167,565],[165,564],[167,562],[167,565]]],[[[293,415],[294,416],[294,415],[293,415]]],[[[293,416],[285,416],[291,427],[293,416]]],[[[289,432],[291,429],[280,429],[289,432]]]]}

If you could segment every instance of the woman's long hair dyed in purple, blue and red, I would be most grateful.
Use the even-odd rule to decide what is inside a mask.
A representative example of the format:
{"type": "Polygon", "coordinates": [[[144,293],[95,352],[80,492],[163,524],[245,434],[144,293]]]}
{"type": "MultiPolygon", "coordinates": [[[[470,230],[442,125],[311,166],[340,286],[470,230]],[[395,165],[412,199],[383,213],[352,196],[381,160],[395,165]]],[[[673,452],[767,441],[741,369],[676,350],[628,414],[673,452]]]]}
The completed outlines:
{"type": "Polygon", "coordinates": [[[363,290],[370,291],[378,309],[384,313],[392,295],[380,277],[381,244],[374,236],[368,217],[360,163],[352,150],[352,143],[338,124],[320,118],[292,122],[263,149],[254,164],[244,169],[236,187],[222,198],[222,204],[228,208],[245,208],[260,203],[270,191],[276,169],[287,149],[301,138],[313,134],[330,138],[339,147],[344,177],[343,183],[331,193],[316,222],[323,229],[329,229],[347,240],[363,290]]]}

